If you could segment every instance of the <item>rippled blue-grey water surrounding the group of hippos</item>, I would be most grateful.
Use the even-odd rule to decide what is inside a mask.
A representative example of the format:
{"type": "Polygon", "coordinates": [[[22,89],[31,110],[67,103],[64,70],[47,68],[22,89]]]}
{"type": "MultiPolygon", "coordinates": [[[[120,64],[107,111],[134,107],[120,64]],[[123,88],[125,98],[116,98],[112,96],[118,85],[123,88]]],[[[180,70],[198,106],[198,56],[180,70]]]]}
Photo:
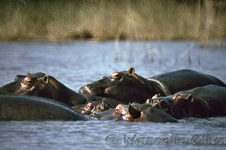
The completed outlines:
{"type": "MultiPolygon", "coordinates": [[[[226,82],[226,42],[200,48],[181,42],[0,42],[0,86],[17,74],[43,72],[78,91],[135,67],[144,77],[194,69],[226,82]]],[[[0,149],[225,149],[226,117],[179,123],[115,121],[0,122],[0,149]]]]}

